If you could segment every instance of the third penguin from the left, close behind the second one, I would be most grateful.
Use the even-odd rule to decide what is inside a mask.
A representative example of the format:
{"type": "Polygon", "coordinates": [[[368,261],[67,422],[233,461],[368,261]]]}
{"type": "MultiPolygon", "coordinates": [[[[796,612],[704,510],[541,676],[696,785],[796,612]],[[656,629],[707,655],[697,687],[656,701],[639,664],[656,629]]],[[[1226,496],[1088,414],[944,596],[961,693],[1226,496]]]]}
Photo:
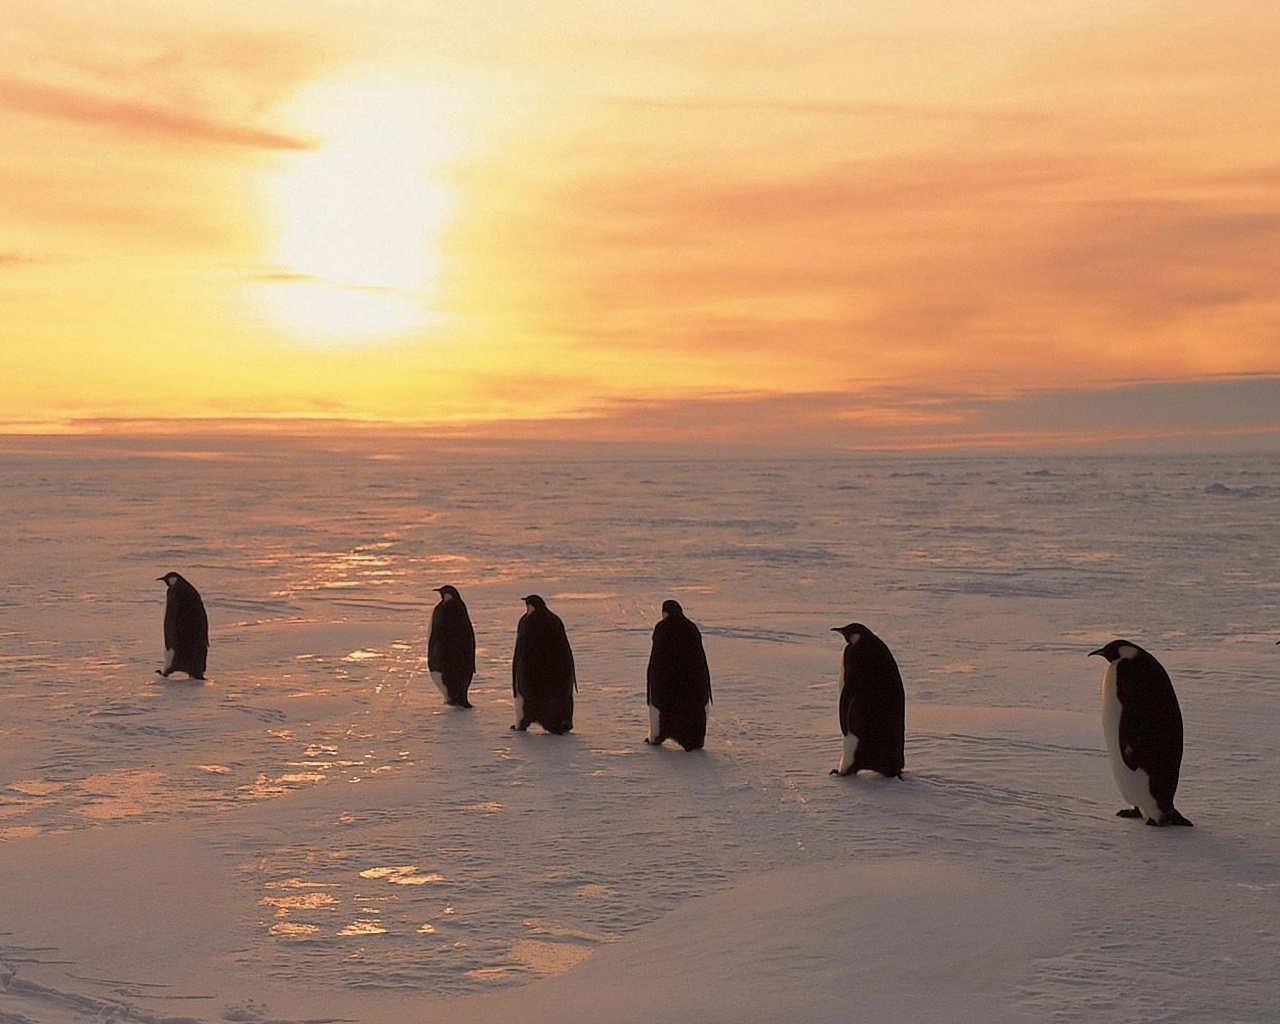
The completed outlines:
{"type": "Polygon", "coordinates": [[[577,675],[564,623],[547,602],[530,594],[516,627],[516,653],[511,659],[511,691],[516,699],[512,728],[524,732],[538,722],[556,735],[570,732],[575,690],[577,675]]]}

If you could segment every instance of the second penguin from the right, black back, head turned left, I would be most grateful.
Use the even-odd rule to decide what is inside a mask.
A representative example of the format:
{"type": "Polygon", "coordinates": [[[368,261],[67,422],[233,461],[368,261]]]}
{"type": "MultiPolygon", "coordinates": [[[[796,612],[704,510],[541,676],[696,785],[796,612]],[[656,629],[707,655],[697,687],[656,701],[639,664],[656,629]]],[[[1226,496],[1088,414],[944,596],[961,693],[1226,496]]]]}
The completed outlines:
{"type": "Polygon", "coordinates": [[[845,637],[840,676],[840,731],[845,750],[833,776],[868,768],[901,778],[906,759],[906,694],[888,646],[860,622],[836,626],[845,637]]]}

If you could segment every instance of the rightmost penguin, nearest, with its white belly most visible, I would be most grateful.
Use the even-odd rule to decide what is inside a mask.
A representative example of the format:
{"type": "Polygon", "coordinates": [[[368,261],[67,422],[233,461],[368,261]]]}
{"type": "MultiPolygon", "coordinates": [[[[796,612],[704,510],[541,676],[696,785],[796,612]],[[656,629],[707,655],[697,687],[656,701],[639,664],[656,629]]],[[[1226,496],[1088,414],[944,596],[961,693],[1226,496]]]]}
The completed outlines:
{"type": "Polygon", "coordinates": [[[1190,824],[1174,806],[1183,763],[1183,713],[1165,667],[1132,640],[1091,650],[1107,659],[1102,676],[1102,731],[1120,795],[1120,818],[1147,824],[1190,824]]]}

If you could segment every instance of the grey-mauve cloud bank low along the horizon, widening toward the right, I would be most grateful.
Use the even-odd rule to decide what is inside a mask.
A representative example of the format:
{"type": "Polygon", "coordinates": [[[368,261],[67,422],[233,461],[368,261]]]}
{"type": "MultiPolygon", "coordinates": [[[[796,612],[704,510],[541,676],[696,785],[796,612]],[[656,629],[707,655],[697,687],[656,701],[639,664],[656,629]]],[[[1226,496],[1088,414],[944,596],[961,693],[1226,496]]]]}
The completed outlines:
{"type": "Polygon", "coordinates": [[[484,436],[823,448],[1280,445],[1280,376],[1009,394],[900,385],[803,394],[605,398],[572,419],[471,424],[484,436]],[[584,420],[586,424],[584,424],[584,420]]]}

